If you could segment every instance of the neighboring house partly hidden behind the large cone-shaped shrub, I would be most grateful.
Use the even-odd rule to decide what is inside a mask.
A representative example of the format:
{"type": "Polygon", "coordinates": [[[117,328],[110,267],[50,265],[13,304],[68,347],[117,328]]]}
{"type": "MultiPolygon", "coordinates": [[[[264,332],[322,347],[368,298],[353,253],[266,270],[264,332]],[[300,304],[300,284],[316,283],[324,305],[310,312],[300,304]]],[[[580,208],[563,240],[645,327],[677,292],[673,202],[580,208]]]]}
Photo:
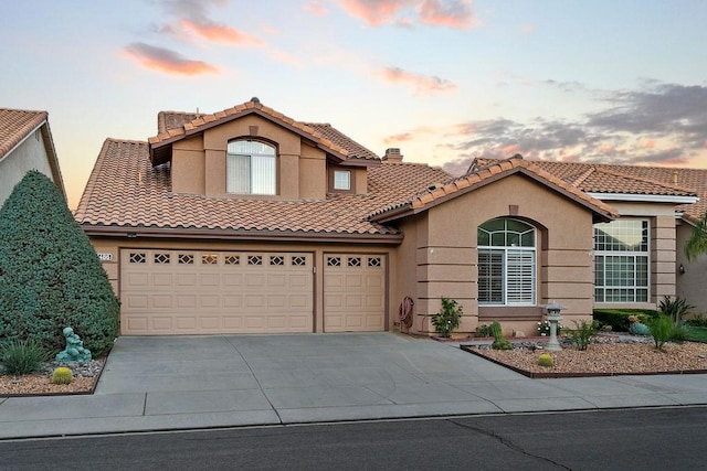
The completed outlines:
{"type": "Polygon", "coordinates": [[[66,197],[48,113],[0,108],[0,207],[30,170],[49,176],[66,197]]]}

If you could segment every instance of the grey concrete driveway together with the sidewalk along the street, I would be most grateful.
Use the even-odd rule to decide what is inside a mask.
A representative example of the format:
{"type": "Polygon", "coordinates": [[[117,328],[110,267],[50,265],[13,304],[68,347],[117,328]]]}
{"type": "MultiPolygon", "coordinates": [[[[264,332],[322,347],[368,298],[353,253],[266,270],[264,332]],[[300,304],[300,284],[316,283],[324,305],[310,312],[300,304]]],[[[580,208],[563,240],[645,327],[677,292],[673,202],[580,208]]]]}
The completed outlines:
{"type": "Polygon", "coordinates": [[[707,404],[707,375],[530,379],[392,333],[119,338],[94,395],[0,397],[0,439],[707,404]]]}

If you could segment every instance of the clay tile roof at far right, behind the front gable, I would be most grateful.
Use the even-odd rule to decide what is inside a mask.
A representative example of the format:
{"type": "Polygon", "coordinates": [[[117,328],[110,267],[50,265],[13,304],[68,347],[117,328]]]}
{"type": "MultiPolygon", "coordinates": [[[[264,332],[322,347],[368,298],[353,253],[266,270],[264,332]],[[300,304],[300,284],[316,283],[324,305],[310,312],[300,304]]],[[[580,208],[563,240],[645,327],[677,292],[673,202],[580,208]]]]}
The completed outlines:
{"type": "MultiPolygon", "coordinates": [[[[472,167],[483,168],[494,161],[476,159],[472,167]]],[[[556,161],[532,161],[532,164],[590,193],[697,195],[697,203],[679,204],[676,211],[693,222],[707,212],[707,169],[556,161]]]]}

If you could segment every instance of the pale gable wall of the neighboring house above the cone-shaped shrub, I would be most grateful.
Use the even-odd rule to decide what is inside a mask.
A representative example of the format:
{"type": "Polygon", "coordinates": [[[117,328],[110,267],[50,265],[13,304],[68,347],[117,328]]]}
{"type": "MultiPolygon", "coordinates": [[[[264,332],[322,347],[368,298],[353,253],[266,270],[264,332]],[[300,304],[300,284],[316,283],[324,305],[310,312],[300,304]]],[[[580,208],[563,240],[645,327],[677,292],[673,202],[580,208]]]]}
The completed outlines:
{"type": "Polygon", "coordinates": [[[0,206],[30,170],[42,172],[56,183],[40,130],[28,136],[20,146],[0,160],[0,206]]]}

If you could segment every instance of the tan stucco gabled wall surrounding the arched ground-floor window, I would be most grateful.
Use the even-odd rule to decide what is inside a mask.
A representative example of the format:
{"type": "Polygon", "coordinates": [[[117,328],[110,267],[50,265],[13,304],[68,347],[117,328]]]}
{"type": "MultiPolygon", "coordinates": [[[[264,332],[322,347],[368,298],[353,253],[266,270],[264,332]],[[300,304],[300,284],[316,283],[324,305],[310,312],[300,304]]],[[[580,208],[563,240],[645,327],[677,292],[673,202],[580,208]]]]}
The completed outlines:
{"type": "Polygon", "coordinates": [[[429,315],[439,311],[441,297],[451,297],[464,309],[457,334],[473,332],[479,323],[490,320],[499,320],[507,333],[535,334],[536,322],[542,315],[539,306],[479,309],[477,304],[477,227],[488,220],[511,217],[509,205],[518,207],[517,216],[513,217],[538,229],[537,304],[552,300],[567,306],[562,313],[567,321],[591,315],[591,212],[528,178],[511,175],[432,207],[401,225],[405,239],[397,250],[391,271],[395,274],[395,298],[416,283],[414,331],[432,330],[429,315]],[[413,250],[414,272],[410,261],[413,250]]]}

